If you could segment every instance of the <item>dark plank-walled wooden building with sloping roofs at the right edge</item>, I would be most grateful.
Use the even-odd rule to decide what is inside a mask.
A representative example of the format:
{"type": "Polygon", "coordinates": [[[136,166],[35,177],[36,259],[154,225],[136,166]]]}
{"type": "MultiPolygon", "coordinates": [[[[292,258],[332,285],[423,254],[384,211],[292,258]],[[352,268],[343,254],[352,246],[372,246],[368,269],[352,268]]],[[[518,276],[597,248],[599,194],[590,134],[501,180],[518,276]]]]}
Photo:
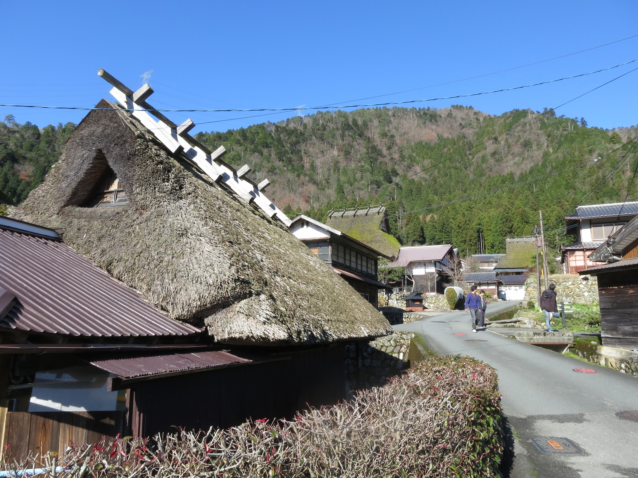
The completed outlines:
{"type": "Polygon", "coordinates": [[[612,233],[589,258],[606,262],[579,272],[598,278],[602,344],[638,349],[638,216],[612,233]]]}

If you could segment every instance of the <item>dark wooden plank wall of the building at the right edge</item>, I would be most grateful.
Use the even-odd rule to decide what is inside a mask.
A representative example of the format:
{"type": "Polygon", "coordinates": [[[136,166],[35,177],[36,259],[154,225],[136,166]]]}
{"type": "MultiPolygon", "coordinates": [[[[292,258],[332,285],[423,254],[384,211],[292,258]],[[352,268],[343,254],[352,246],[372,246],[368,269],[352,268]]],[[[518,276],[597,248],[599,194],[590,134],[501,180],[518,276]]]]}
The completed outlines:
{"type": "Polygon", "coordinates": [[[638,270],[598,274],[602,344],[638,346],[638,270]]]}

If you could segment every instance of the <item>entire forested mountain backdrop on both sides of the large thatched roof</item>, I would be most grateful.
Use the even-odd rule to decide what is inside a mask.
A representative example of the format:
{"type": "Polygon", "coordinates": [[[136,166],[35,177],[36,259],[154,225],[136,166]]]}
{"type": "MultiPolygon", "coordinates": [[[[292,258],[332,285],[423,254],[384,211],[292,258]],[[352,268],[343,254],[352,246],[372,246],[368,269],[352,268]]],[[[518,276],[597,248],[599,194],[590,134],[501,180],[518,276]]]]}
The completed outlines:
{"type": "MultiPolygon", "coordinates": [[[[0,123],[0,202],[22,201],[41,182],[73,126],[0,123]]],[[[632,135],[552,110],[452,106],[318,112],[197,138],[269,178],[269,198],[290,215],[324,221],[332,208],[387,203],[402,243],[471,254],[531,235],[539,209],[556,246],[572,242],[562,228],[576,205],[637,199],[632,135]]]]}

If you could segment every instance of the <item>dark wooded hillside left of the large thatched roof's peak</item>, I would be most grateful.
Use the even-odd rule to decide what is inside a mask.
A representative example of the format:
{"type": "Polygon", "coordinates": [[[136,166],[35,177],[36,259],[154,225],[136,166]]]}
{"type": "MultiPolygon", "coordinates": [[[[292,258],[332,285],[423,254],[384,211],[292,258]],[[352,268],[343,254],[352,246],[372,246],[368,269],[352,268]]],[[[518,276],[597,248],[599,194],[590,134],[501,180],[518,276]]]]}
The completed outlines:
{"type": "Polygon", "coordinates": [[[4,117],[0,122],[0,214],[3,205],[20,203],[40,185],[74,128],[73,123],[60,123],[40,129],[30,122],[18,124],[11,115],[4,117]]]}

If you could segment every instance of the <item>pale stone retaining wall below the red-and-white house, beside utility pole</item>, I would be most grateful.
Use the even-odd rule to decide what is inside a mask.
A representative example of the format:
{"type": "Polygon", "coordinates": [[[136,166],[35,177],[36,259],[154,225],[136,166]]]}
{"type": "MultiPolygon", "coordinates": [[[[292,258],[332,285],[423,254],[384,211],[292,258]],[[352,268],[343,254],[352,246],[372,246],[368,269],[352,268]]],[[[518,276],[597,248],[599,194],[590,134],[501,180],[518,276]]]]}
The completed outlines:
{"type": "MultiPolygon", "coordinates": [[[[598,279],[593,276],[584,276],[583,280],[577,274],[553,274],[549,276],[549,282],[556,284],[556,301],[572,302],[576,304],[598,303],[598,279]]],[[[540,280],[541,290],[544,290],[543,280],[540,280]]],[[[538,305],[538,288],[536,274],[530,275],[525,282],[524,301],[533,301],[538,305]]]]}

